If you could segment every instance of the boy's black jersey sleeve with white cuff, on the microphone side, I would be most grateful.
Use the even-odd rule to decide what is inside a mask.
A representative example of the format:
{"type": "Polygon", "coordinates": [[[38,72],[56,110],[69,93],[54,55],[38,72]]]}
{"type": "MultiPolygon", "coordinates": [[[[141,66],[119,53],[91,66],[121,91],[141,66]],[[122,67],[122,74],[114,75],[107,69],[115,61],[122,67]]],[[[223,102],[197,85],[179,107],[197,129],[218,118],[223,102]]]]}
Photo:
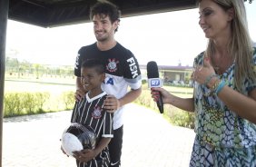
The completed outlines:
{"type": "Polygon", "coordinates": [[[113,113],[106,112],[103,118],[103,135],[102,137],[113,138],[113,113]]]}

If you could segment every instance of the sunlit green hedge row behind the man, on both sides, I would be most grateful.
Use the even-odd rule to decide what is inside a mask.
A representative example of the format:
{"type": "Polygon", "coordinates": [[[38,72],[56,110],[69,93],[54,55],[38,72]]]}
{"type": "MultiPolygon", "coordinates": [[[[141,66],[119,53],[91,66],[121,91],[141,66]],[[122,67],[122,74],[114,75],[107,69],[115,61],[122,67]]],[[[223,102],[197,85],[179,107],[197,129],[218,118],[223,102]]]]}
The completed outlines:
{"type": "MultiPolygon", "coordinates": [[[[50,93],[5,93],[4,117],[73,109],[74,92],[64,92],[60,97],[54,97],[54,100],[50,96],[50,93]]],[[[143,93],[135,103],[158,112],[157,105],[147,89],[143,89],[143,93]]],[[[194,114],[184,112],[172,105],[164,105],[163,116],[174,125],[194,127],[194,114]]]]}

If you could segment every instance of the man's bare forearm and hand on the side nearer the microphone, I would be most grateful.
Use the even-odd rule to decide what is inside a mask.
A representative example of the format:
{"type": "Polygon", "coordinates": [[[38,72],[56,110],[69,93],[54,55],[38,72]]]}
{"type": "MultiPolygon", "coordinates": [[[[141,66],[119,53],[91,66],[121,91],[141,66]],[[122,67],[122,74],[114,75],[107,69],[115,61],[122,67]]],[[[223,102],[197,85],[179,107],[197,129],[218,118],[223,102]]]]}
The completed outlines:
{"type": "Polygon", "coordinates": [[[104,101],[103,108],[106,109],[109,113],[114,113],[118,108],[122,107],[127,103],[132,103],[136,100],[142,93],[142,87],[139,89],[129,91],[122,98],[116,99],[113,95],[108,95],[104,101]]]}

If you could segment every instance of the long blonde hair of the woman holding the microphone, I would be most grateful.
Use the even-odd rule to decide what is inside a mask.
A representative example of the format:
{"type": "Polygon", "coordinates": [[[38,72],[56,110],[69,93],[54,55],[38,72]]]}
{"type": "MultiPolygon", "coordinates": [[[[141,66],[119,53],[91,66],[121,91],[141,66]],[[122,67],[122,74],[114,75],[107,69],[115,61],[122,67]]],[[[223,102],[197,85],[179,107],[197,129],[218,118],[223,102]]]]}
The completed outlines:
{"type": "MultiPolygon", "coordinates": [[[[220,5],[223,10],[233,8],[234,17],[231,21],[231,41],[228,44],[228,53],[235,60],[234,84],[238,91],[242,90],[242,81],[249,78],[256,82],[256,74],[252,64],[252,40],[248,31],[248,22],[243,0],[212,0],[220,5]]],[[[202,0],[199,0],[199,3],[202,0]]],[[[214,43],[209,39],[205,54],[211,56],[214,53],[214,43]]]]}

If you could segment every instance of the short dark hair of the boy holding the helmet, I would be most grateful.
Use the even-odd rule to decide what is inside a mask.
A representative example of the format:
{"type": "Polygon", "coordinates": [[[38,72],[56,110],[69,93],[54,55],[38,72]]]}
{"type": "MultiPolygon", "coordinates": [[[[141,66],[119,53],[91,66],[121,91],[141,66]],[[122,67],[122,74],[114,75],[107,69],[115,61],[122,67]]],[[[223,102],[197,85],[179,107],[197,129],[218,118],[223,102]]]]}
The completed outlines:
{"type": "Polygon", "coordinates": [[[82,68],[94,68],[97,74],[105,73],[105,68],[102,61],[97,59],[85,60],[82,64],[82,68]]]}

